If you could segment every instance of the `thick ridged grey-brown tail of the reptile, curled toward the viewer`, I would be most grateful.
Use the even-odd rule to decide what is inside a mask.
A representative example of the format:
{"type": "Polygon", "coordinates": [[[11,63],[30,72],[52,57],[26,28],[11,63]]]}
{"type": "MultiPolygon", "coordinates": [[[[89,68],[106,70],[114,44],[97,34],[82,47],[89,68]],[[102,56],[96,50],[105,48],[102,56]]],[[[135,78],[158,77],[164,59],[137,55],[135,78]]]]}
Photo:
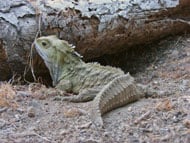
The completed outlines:
{"type": "Polygon", "coordinates": [[[140,98],[134,78],[129,74],[119,76],[109,82],[95,97],[91,110],[92,121],[102,127],[102,115],[140,98]]]}

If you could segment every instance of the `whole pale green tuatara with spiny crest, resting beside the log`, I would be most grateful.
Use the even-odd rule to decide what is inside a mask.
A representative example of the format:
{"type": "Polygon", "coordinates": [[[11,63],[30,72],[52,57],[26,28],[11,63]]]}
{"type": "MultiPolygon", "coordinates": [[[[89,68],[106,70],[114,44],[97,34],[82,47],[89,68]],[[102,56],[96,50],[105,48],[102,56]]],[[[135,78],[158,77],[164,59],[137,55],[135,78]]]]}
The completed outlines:
{"type": "Polygon", "coordinates": [[[34,42],[39,55],[50,71],[56,88],[79,94],[63,100],[93,100],[92,120],[103,125],[101,115],[144,96],[129,74],[118,68],[85,63],[74,47],[56,36],[40,37],[34,42]]]}

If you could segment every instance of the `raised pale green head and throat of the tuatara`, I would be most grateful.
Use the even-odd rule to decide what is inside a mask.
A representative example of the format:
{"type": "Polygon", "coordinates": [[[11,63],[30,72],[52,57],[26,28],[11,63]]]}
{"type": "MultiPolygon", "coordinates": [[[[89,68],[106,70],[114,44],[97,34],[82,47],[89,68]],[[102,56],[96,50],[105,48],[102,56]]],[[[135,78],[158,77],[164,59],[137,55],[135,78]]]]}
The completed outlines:
{"type": "Polygon", "coordinates": [[[64,66],[81,61],[72,45],[54,35],[40,37],[34,41],[34,45],[48,67],[54,83],[60,78],[64,66]]]}

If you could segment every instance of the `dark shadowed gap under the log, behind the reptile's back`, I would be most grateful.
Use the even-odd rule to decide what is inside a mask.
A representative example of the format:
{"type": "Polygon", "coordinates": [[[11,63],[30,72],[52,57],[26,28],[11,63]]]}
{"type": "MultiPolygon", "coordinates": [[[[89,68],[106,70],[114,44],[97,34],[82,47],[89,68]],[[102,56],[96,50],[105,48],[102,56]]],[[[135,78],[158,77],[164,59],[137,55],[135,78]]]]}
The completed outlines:
{"type": "Polygon", "coordinates": [[[135,75],[145,71],[148,66],[159,59],[164,58],[164,51],[169,49],[170,45],[174,44],[175,41],[177,41],[177,38],[170,37],[161,42],[131,47],[117,54],[103,55],[88,62],[99,62],[102,65],[119,67],[125,72],[135,75]]]}

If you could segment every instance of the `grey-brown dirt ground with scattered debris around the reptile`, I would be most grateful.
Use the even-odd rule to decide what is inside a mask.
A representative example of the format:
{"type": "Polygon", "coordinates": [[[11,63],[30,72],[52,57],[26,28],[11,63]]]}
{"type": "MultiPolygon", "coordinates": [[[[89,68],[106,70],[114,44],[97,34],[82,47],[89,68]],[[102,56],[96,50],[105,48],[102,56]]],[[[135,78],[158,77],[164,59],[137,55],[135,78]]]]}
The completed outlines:
{"type": "Polygon", "coordinates": [[[167,94],[107,113],[102,129],[88,116],[91,102],[54,101],[56,91],[38,83],[0,83],[0,142],[189,143],[190,36],[169,38],[151,49],[139,57],[144,63],[131,62],[138,66],[133,76],[167,94]]]}

